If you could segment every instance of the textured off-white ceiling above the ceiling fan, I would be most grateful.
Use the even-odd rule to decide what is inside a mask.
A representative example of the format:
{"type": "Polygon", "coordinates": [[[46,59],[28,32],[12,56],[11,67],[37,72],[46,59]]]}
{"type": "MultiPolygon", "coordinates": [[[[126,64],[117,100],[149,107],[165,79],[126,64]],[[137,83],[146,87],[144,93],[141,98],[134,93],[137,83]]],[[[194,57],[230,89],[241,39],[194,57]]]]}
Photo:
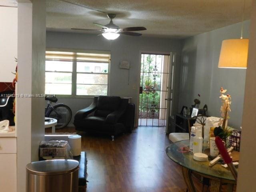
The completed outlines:
{"type": "MultiPolygon", "coordinates": [[[[144,26],[147,30],[141,31],[143,36],[172,38],[185,38],[240,22],[244,5],[244,0],[66,1],[74,4],[46,0],[48,30],[78,32],[70,28],[99,29],[93,22],[108,24],[105,12],[117,14],[113,21],[120,28],[144,26]]],[[[252,0],[245,2],[244,20],[248,20],[252,0]]]]}

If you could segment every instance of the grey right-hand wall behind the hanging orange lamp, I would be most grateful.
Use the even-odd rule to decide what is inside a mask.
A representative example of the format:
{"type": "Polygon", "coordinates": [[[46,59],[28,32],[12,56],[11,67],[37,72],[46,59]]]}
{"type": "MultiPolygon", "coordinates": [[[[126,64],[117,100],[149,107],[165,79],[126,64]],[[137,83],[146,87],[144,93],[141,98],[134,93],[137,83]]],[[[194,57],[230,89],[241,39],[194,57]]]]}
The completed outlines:
{"type": "MultiPolygon", "coordinates": [[[[249,36],[250,22],[244,22],[244,38],[249,36]]],[[[240,128],[244,101],[245,69],[218,68],[222,40],[240,38],[241,23],[226,26],[187,38],[183,42],[180,79],[180,103],[194,104],[194,98],[201,101],[200,107],[208,105],[208,115],[220,117],[220,87],[232,96],[229,126],[240,128]],[[200,94],[199,98],[197,94],[200,94]]]]}

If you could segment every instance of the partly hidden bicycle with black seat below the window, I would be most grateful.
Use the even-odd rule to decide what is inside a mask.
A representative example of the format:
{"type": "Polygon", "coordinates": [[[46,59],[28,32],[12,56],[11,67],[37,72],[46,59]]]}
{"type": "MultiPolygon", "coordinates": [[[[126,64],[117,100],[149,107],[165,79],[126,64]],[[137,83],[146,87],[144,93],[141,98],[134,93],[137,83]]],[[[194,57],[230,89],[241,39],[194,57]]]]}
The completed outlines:
{"type": "Polygon", "coordinates": [[[46,96],[45,100],[47,100],[47,107],[45,108],[44,116],[54,118],[57,120],[56,129],[63,128],[68,125],[72,117],[72,111],[69,106],[58,103],[52,106],[52,102],[56,103],[58,98],[55,96],[46,96]]]}

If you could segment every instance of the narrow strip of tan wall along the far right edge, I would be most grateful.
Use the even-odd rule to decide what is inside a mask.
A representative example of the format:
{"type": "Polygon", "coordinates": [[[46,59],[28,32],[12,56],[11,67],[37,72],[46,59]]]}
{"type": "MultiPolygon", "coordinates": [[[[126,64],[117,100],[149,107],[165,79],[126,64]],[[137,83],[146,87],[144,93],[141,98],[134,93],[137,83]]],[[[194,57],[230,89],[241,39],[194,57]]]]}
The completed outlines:
{"type": "Polygon", "coordinates": [[[256,137],[256,89],[254,88],[256,84],[256,1],[253,1],[252,7],[237,192],[256,191],[256,185],[254,185],[256,174],[254,150],[256,137]]]}

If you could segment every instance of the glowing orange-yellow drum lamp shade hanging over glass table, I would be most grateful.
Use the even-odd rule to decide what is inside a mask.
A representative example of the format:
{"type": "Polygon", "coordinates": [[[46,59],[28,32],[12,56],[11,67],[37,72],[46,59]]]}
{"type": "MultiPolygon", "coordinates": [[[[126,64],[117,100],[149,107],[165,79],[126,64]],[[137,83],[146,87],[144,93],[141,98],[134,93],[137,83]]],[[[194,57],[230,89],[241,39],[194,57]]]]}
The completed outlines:
{"type": "Polygon", "coordinates": [[[222,41],[219,68],[247,68],[249,39],[222,41]]]}

